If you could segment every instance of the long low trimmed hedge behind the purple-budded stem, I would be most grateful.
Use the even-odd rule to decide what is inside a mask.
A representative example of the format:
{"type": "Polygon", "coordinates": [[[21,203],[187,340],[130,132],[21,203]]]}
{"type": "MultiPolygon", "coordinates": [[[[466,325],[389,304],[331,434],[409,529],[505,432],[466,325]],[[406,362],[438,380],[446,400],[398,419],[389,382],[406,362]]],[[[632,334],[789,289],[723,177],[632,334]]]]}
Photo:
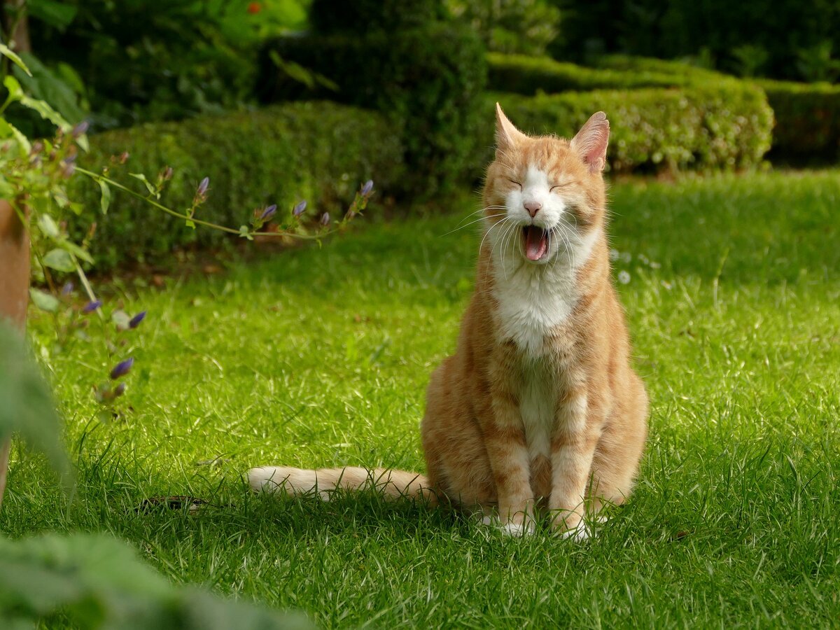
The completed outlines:
{"type": "MultiPolygon", "coordinates": [[[[314,208],[334,211],[351,201],[362,181],[371,178],[378,190],[388,191],[403,176],[398,129],[381,114],[330,102],[99,134],[91,138],[91,151],[80,165],[97,171],[123,151],[130,154],[128,163],[110,169],[118,181],[132,182],[129,172],[154,180],[163,167],[174,169],[163,202],[175,209],[190,207],[198,182],[209,176],[209,197],[197,217],[234,228],[248,223],[255,207],[276,203],[279,217],[306,199],[310,213],[314,208]]],[[[71,198],[89,209],[99,207],[96,184],[76,176],[72,185],[71,198]]],[[[83,234],[90,219],[90,213],[71,217],[71,229],[83,234]]],[[[91,249],[99,270],[132,260],[154,262],[182,245],[213,246],[228,238],[212,229],[187,228],[180,219],[118,191],[97,223],[91,249]]]]}

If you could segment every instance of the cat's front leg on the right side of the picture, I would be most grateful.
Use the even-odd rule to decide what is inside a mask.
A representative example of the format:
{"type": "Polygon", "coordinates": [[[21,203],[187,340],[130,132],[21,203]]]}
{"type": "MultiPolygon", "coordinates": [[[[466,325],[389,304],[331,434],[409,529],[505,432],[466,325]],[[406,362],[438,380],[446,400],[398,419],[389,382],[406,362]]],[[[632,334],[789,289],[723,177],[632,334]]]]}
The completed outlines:
{"type": "Polygon", "coordinates": [[[551,440],[549,512],[555,531],[569,538],[589,538],[584,521],[586,486],[601,435],[601,423],[588,422],[597,406],[584,388],[565,396],[551,440]]]}

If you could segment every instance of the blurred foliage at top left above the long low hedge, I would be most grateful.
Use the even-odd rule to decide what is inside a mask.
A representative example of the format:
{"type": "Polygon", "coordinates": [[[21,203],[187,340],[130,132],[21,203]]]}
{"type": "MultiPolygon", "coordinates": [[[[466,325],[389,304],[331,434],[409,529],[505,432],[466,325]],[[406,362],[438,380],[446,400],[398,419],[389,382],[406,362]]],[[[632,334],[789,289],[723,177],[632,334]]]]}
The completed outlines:
{"type": "Polygon", "coordinates": [[[240,107],[251,97],[257,42],[302,28],[306,7],[307,0],[29,0],[29,30],[47,68],[73,69],[92,123],[107,129],[240,107]]]}

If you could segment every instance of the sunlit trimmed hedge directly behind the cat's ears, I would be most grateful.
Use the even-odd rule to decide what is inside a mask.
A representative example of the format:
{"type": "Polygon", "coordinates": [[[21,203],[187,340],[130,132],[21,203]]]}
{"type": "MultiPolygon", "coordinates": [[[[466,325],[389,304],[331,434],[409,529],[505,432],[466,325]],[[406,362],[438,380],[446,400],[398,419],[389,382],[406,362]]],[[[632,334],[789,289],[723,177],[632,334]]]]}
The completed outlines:
{"type": "MultiPolygon", "coordinates": [[[[607,155],[613,171],[736,169],[758,165],[770,146],[773,112],[759,87],[645,88],[565,92],[525,97],[494,94],[485,104],[480,144],[493,137],[493,102],[527,133],[575,135],[603,110],[612,136],[607,155]]],[[[489,160],[488,151],[475,167],[489,160]]],[[[474,171],[475,172],[475,171],[474,171]]]]}

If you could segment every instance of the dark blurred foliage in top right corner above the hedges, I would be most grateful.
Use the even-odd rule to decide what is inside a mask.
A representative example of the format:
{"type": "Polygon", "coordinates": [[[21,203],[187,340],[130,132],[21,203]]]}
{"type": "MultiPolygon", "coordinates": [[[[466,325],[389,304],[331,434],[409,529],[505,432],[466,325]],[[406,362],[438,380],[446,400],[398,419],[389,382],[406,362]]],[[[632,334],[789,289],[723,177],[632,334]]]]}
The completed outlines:
{"type": "Polygon", "coordinates": [[[562,60],[603,53],[686,58],[740,76],[836,81],[840,3],[833,0],[554,0],[563,16],[549,46],[562,60]]]}

